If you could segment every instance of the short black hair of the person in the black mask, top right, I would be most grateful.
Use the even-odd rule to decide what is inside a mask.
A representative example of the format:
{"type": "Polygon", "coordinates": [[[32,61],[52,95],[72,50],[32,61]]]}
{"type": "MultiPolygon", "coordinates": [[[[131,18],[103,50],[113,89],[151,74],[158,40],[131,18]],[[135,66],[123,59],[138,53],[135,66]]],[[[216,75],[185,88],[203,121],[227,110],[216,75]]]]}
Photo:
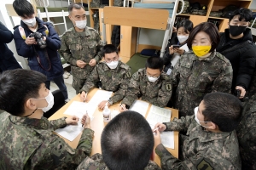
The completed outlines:
{"type": "Polygon", "coordinates": [[[248,8],[239,8],[236,9],[233,13],[230,14],[230,21],[233,20],[234,16],[239,14],[239,20],[245,20],[247,22],[253,20],[253,12],[248,8]]]}

